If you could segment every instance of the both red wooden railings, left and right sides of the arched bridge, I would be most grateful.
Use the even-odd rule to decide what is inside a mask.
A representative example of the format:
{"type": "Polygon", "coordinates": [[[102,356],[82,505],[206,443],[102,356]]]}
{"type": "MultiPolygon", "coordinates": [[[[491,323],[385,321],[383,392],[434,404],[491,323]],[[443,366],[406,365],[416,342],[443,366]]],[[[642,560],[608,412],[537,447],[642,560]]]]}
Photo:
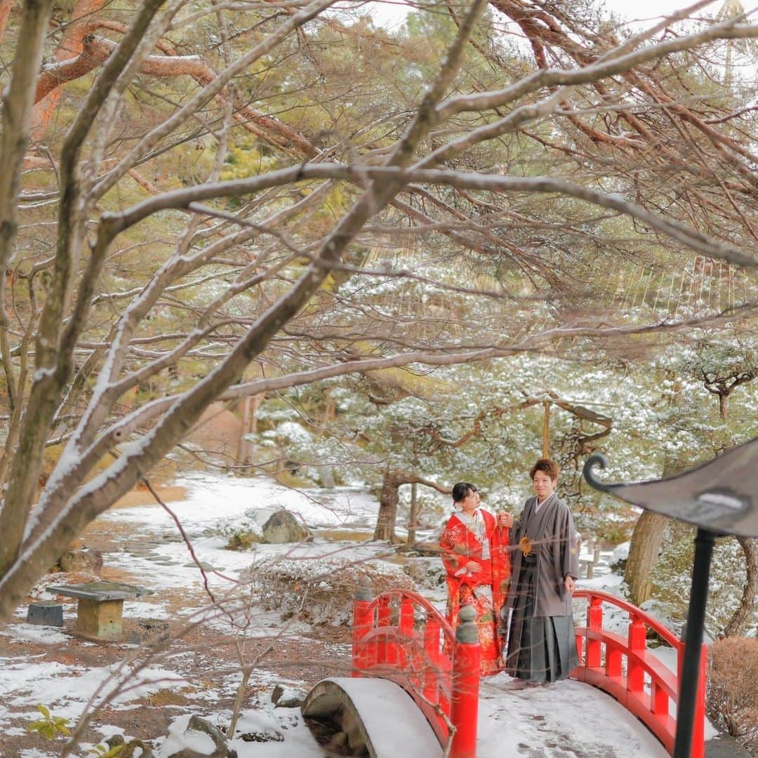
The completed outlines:
{"type": "MultiPolygon", "coordinates": [[[[574,597],[586,599],[588,605],[587,626],[576,628],[580,664],[572,678],[614,697],[673,753],[684,642],[618,597],[592,590],[577,590],[574,597]],[[628,613],[626,637],[603,629],[603,604],[628,613]],[[648,629],[676,651],[676,673],[647,650],[648,629]]],[[[362,588],[353,606],[352,675],[380,676],[400,684],[443,747],[452,735],[450,758],[476,756],[481,650],[474,618],[474,610],[464,606],[454,633],[428,600],[400,589],[372,598],[371,590],[362,588]]],[[[705,646],[700,666],[691,758],[704,756],[705,646]]]]}

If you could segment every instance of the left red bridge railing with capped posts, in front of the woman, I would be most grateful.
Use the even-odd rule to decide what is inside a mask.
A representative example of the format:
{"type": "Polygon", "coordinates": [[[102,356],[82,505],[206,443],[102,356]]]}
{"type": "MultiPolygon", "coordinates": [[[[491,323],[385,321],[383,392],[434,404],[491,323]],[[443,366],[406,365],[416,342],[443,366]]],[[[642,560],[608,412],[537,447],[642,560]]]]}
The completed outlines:
{"type": "Polygon", "coordinates": [[[361,588],[353,605],[352,675],[396,681],[415,700],[450,758],[475,758],[479,647],[475,612],[461,609],[457,631],[424,597],[361,588]],[[449,652],[447,652],[449,651],[449,652]]]}

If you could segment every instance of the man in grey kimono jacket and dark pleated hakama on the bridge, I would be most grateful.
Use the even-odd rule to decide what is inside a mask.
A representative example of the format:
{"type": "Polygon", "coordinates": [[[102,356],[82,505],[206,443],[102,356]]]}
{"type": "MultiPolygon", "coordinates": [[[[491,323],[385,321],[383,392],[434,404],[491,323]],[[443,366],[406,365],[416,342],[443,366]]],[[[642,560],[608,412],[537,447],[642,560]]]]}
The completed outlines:
{"type": "Polygon", "coordinates": [[[555,493],[559,467],[550,459],[532,466],[536,496],[511,530],[512,576],[501,615],[508,626],[506,672],[532,682],[558,681],[578,666],[572,593],[578,578],[574,520],[555,493]]]}

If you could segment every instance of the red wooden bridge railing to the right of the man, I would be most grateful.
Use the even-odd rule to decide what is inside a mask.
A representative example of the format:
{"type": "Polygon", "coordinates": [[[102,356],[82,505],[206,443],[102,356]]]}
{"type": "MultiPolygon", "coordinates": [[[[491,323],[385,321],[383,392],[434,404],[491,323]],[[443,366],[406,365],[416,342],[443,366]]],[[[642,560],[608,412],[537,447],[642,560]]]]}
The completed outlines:
{"type": "MultiPolygon", "coordinates": [[[[672,754],[684,642],[652,616],[618,597],[592,590],[577,590],[574,597],[586,598],[588,605],[587,626],[576,628],[580,664],[571,673],[572,678],[593,684],[618,700],[644,722],[672,754]],[[603,629],[603,603],[628,613],[626,637],[603,629]],[[648,629],[676,650],[676,673],[647,650],[648,629]]],[[[706,646],[703,645],[691,758],[703,758],[705,750],[705,681],[706,646]]]]}

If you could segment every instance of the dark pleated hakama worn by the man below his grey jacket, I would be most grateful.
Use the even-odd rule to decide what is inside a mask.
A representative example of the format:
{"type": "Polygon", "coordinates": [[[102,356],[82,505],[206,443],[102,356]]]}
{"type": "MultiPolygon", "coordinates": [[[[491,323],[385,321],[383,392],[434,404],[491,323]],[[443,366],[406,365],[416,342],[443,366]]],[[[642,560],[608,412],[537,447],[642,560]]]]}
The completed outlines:
{"type": "Polygon", "coordinates": [[[515,583],[506,672],[527,681],[559,681],[579,665],[574,619],[571,615],[534,615],[536,580],[537,560],[522,559],[515,583]]]}

